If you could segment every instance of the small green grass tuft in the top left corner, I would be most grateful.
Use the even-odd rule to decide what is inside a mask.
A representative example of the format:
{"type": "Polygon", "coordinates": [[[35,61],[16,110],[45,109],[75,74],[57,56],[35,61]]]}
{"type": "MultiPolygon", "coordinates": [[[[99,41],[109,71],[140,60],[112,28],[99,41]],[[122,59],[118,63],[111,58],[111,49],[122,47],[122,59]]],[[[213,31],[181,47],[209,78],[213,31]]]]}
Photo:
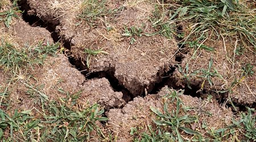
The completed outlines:
{"type": "MultiPolygon", "coordinates": [[[[2,7],[2,1],[0,1],[0,9],[2,7]]],[[[13,18],[18,18],[19,17],[19,13],[22,13],[22,11],[20,11],[18,9],[17,6],[17,0],[13,2],[13,6],[10,7],[10,9],[8,10],[3,10],[0,12],[0,22],[4,22],[6,27],[10,27],[11,24],[11,20],[13,18]]]]}

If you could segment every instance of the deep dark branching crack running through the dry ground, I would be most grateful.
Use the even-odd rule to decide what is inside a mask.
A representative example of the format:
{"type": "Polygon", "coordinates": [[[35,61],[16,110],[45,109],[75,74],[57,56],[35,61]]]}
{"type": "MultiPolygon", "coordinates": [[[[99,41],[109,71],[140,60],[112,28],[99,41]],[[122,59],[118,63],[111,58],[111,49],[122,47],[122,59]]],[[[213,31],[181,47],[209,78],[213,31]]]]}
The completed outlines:
{"type": "MultiPolygon", "coordinates": [[[[71,49],[71,42],[70,41],[65,41],[59,33],[56,31],[56,26],[59,26],[60,22],[59,19],[57,18],[48,18],[48,17],[41,17],[39,18],[36,15],[36,11],[34,14],[31,14],[30,11],[30,6],[27,3],[27,0],[21,0],[18,1],[18,5],[20,7],[20,10],[24,11],[22,14],[22,18],[25,22],[29,23],[32,27],[43,27],[46,28],[49,32],[51,32],[52,39],[55,42],[60,41],[63,46],[67,49],[71,49]],[[30,13],[30,14],[28,14],[30,13]]],[[[177,26],[177,34],[182,34],[183,28],[182,26],[177,26]]],[[[176,37],[178,47],[179,47],[179,52],[175,56],[175,61],[178,63],[182,62],[184,59],[184,55],[187,54],[187,49],[185,48],[185,45],[181,42],[183,39],[182,37],[176,37]]],[[[126,89],[119,81],[117,78],[114,76],[115,69],[114,68],[109,68],[108,70],[101,71],[101,72],[93,72],[89,73],[86,71],[86,66],[82,64],[80,60],[73,59],[73,57],[68,57],[69,62],[73,66],[76,67],[76,69],[80,70],[82,74],[86,77],[87,80],[91,80],[92,78],[107,78],[110,82],[110,85],[112,86],[114,91],[121,91],[123,93],[123,99],[125,99],[126,102],[133,101],[133,98],[137,97],[138,95],[131,94],[128,89],[126,89]]],[[[158,80],[151,82],[148,86],[143,86],[144,88],[147,87],[147,91],[143,91],[141,94],[142,97],[146,96],[147,94],[157,94],[160,89],[162,89],[164,86],[168,86],[172,89],[179,90],[183,89],[184,90],[184,95],[191,95],[192,97],[198,97],[198,98],[207,98],[208,94],[213,95],[213,98],[217,100],[217,102],[222,105],[225,104],[227,107],[232,107],[230,103],[225,103],[228,100],[228,96],[226,93],[222,94],[217,94],[214,92],[210,91],[200,91],[201,84],[191,84],[192,89],[189,89],[187,86],[186,82],[183,82],[183,85],[176,85],[176,82],[178,81],[177,78],[173,76],[173,73],[177,69],[177,66],[169,66],[169,69],[167,71],[159,70],[158,74],[158,80]]],[[[246,106],[249,107],[256,107],[256,103],[254,102],[252,105],[249,104],[234,104],[236,107],[238,107],[239,111],[246,111],[246,106]]],[[[233,108],[234,110],[234,108],[233,108]]],[[[234,111],[235,112],[235,111],[234,111]]]]}

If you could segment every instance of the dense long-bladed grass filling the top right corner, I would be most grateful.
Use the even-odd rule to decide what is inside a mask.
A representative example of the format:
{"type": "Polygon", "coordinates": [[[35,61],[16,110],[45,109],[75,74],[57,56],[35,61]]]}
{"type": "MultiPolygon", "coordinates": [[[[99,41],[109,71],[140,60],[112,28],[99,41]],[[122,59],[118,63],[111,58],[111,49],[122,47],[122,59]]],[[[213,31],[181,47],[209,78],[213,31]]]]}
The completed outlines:
{"type": "Polygon", "coordinates": [[[206,39],[213,32],[220,36],[240,37],[241,44],[253,45],[256,49],[255,10],[231,0],[183,0],[176,10],[171,11],[170,20],[187,22],[191,28],[185,38],[206,39]]]}

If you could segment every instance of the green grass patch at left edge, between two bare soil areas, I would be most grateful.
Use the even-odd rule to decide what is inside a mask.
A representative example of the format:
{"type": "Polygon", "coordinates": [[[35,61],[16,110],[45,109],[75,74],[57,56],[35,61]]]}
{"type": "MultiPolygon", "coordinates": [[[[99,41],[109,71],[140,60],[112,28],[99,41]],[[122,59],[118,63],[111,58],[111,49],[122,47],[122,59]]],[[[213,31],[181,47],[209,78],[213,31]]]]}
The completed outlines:
{"type": "Polygon", "coordinates": [[[0,67],[6,72],[11,71],[17,74],[26,68],[33,68],[33,65],[43,64],[48,55],[55,56],[59,44],[43,44],[36,46],[25,45],[17,48],[15,45],[1,39],[0,44],[0,67]]]}

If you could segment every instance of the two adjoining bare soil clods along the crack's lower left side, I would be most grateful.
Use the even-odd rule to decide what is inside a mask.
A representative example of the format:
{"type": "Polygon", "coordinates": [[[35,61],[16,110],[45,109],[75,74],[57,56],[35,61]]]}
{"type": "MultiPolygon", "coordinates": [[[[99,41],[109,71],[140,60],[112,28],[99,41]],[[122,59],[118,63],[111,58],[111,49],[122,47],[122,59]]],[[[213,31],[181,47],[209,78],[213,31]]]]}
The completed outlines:
{"type": "Polygon", "coordinates": [[[114,92],[106,78],[85,80],[64,55],[49,58],[43,68],[36,72],[35,77],[39,80],[38,85],[44,84],[44,92],[51,95],[50,98],[64,97],[65,94],[57,91],[62,89],[71,94],[78,93],[80,102],[89,102],[90,105],[100,103],[101,106],[109,108],[121,106],[125,102],[122,93],[114,92]]]}

